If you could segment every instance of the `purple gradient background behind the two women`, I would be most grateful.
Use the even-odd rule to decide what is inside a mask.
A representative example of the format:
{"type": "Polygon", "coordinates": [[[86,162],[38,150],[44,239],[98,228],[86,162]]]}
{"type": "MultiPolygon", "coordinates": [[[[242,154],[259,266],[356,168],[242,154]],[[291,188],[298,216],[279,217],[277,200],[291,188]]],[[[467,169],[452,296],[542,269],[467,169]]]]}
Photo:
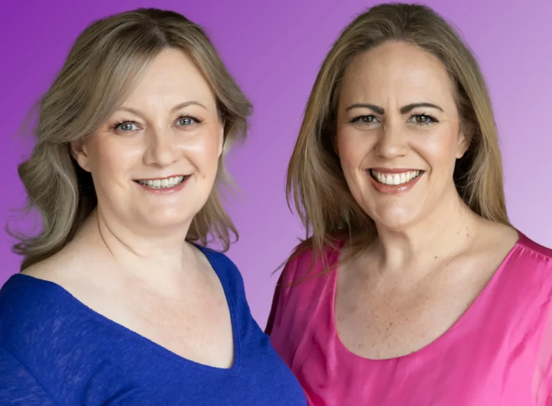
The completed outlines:
{"type": "MultiPolygon", "coordinates": [[[[284,176],[304,105],[338,32],[375,1],[95,0],[2,2],[0,15],[0,220],[24,203],[17,132],[54,79],[75,37],[94,19],[132,8],[169,8],[202,24],[255,107],[244,146],[229,157],[241,194],[227,205],[241,238],[229,252],[264,325],[276,276],[303,231],[285,202],[284,176]],[[13,3],[13,4],[8,4],[13,3]]],[[[433,0],[474,50],[491,91],[505,162],[507,206],[523,233],[552,246],[552,1],[433,0]]],[[[29,221],[25,224],[31,224],[29,221]]],[[[0,236],[0,285],[19,270],[0,236]]]]}

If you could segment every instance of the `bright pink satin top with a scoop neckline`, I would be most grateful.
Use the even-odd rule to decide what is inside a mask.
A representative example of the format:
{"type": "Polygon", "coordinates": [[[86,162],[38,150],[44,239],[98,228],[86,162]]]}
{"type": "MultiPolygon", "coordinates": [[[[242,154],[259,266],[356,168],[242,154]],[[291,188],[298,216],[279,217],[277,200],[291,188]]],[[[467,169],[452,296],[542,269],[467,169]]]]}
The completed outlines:
{"type": "MultiPolygon", "coordinates": [[[[339,252],[327,250],[329,264],[339,252]]],[[[445,334],[385,360],[353,354],[334,324],[336,270],[290,286],[311,251],[281,276],[268,329],[312,406],[552,405],[552,250],[524,235],[445,334]]],[[[313,272],[322,270],[322,261],[313,272]]]]}

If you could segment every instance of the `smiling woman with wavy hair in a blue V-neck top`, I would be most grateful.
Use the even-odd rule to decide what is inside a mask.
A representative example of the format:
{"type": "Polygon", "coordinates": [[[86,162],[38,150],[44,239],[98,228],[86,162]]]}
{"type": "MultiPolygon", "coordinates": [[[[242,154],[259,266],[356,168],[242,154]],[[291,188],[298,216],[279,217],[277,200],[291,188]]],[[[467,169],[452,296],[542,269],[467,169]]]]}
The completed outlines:
{"type": "MultiPolygon", "coordinates": [[[[0,291],[2,405],[305,405],[253,320],[214,188],[250,104],[185,17],[75,42],[19,169],[43,229],[0,291]]],[[[237,236],[237,234],[236,234],[237,236]]]]}

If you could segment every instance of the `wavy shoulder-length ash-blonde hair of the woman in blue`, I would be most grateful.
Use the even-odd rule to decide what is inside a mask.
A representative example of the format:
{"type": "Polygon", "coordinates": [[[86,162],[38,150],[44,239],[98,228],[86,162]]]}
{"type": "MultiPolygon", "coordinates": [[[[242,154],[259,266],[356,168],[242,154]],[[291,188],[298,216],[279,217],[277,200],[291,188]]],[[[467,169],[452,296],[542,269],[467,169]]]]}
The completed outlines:
{"type": "MultiPolygon", "coordinates": [[[[27,189],[28,208],[40,214],[42,229],[32,236],[10,232],[19,240],[13,251],[24,256],[21,270],[62,249],[96,208],[91,175],[70,155],[70,142],[93,134],[167,47],[181,49],[191,58],[216,97],[224,123],[217,182],[228,186],[223,157],[234,141],[245,138],[251,104],[206,33],[183,15],[154,8],[100,19],[77,38],[61,72],[37,104],[36,145],[20,164],[19,175],[27,189]]],[[[214,187],[186,240],[206,245],[211,236],[227,250],[231,234],[239,237],[214,187]]]]}

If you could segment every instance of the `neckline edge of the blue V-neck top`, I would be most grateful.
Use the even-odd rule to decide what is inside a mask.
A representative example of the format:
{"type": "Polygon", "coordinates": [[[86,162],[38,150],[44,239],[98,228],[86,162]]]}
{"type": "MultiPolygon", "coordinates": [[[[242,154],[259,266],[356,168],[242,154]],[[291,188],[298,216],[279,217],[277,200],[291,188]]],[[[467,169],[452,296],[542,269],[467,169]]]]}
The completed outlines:
{"type": "Polygon", "coordinates": [[[174,361],[176,361],[177,363],[188,364],[195,368],[199,368],[210,372],[236,375],[238,371],[241,369],[241,345],[239,342],[239,331],[238,331],[238,325],[237,325],[236,306],[234,303],[234,299],[232,298],[232,295],[228,290],[227,283],[225,283],[226,281],[225,277],[221,274],[221,272],[219,272],[218,266],[216,266],[216,265],[219,265],[217,264],[218,262],[217,259],[212,257],[213,253],[209,252],[211,250],[208,249],[207,247],[202,247],[197,244],[193,244],[193,245],[194,247],[199,249],[203,253],[203,255],[207,258],[207,260],[209,261],[209,264],[213,268],[216,276],[218,277],[219,282],[223,286],[224,295],[225,295],[228,310],[230,313],[230,323],[232,325],[232,339],[234,341],[234,355],[232,360],[232,366],[230,366],[230,368],[221,368],[217,366],[202,364],[198,361],[193,361],[193,359],[183,357],[177,354],[176,352],[172,352],[168,348],[163,347],[163,345],[158,344],[150,340],[146,336],[142,336],[142,334],[139,334],[136,331],[133,331],[132,329],[129,329],[128,327],[125,327],[124,325],[121,325],[118,322],[111,320],[110,318],[107,318],[105,315],[98,313],[94,309],[91,309],[91,307],[81,302],[79,299],[73,296],[68,290],[66,290],[66,288],[59,285],[58,283],[47,281],[46,279],[40,279],[40,278],[37,278],[36,276],[31,276],[31,275],[21,274],[21,273],[12,275],[10,279],[20,279],[22,281],[27,281],[27,282],[31,281],[32,283],[39,283],[43,286],[47,286],[49,288],[54,289],[55,291],[59,292],[61,295],[69,299],[71,302],[73,302],[80,309],[89,313],[89,315],[92,318],[99,320],[100,322],[103,322],[105,325],[110,325],[114,329],[119,330],[121,334],[128,336],[130,340],[142,343],[142,345],[146,345],[147,348],[151,348],[151,350],[160,354],[162,357],[165,357],[165,358],[170,357],[171,359],[174,359],[174,361]]]}

